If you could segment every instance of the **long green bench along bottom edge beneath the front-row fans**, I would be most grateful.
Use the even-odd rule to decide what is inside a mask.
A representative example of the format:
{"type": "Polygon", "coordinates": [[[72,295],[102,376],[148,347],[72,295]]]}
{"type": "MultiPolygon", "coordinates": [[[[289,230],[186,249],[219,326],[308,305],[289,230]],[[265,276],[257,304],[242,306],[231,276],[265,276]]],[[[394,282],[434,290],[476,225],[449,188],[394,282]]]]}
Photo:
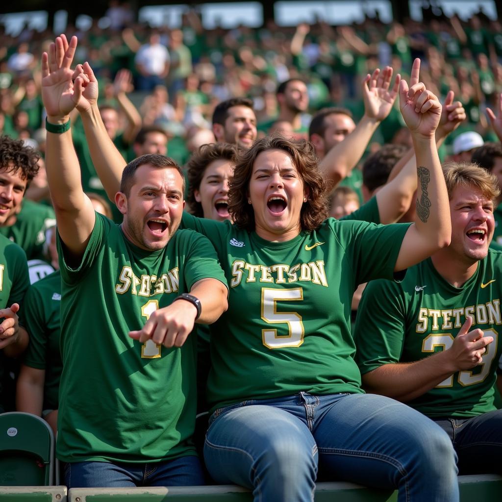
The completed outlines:
{"type": "MultiPolygon", "coordinates": [[[[460,502],[499,500],[502,476],[459,476],[460,502]]],[[[172,488],[71,488],[69,502],[252,502],[244,488],[223,486],[175,486],[172,488]]],[[[398,492],[376,490],[352,483],[317,483],[315,502],[397,502],[398,492]]],[[[3,502],[3,500],[0,500],[3,502]]]]}

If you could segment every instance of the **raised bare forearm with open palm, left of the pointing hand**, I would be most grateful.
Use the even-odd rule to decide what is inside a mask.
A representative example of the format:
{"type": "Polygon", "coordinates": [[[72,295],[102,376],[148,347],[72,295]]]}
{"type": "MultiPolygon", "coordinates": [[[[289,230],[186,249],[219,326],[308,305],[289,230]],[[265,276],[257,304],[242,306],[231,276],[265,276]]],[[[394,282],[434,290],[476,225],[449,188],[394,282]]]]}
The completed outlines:
{"type": "Polygon", "coordinates": [[[398,94],[400,75],[390,89],[393,70],[386,66],[384,71],[376,69],[362,81],[364,115],[355,129],[335,145],[319,163],[319,169],[334,188],[354,168],[366,150],[369,140],[380,122],[391,112],[398,94]]]}

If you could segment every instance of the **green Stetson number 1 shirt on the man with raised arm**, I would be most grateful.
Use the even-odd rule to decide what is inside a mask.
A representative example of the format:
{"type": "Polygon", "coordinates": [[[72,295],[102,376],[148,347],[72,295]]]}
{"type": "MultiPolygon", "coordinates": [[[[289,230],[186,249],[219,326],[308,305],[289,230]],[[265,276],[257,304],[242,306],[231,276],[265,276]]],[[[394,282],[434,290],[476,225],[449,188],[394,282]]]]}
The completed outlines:
{"type": "Polygon", "coordinates": [[[96,213],[80,265],[58,240],[61,355],[58,458],[160,462],[194,455],[196,338],[166,348],[129,337],[199,280],[226,285],[210,242],[177,230],[155,252],[96,213]]]}

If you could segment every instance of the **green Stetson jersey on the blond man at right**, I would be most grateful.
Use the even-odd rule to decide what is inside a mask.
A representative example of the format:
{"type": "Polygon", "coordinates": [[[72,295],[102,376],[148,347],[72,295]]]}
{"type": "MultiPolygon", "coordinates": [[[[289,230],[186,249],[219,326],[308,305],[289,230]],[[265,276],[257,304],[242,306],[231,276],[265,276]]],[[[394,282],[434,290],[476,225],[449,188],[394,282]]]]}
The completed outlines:
{"type": "Polygon", "coordinates": [[[502,252],[490,249],[461,288],[443,279],[430,258],[410,268],[401,284],[369,283],[354,334],[361,373],[383,364],[417,361],[449,348],[470,316],[471,329],[493,336],[483,362],[457,371],[407,404],[429,417],[468,418],[494,410],[493,384],[502,350],[502,337],[498,338],[501,271],[502,252]]]}

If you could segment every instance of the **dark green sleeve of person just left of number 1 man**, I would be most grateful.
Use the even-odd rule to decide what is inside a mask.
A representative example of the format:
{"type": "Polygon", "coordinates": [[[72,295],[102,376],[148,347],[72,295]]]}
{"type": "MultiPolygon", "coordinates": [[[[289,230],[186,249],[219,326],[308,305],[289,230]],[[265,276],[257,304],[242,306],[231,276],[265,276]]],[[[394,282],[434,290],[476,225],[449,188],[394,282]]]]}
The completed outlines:
{"type": "Polygon", "coordinates": [[[20,320],[30,335],[24,363],[31,368],[45,369],[47,350],[47,322],[44,319],[42,298],[34,286],[26,293],[23,308],[19,311],[20,320]]]}

